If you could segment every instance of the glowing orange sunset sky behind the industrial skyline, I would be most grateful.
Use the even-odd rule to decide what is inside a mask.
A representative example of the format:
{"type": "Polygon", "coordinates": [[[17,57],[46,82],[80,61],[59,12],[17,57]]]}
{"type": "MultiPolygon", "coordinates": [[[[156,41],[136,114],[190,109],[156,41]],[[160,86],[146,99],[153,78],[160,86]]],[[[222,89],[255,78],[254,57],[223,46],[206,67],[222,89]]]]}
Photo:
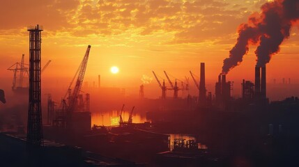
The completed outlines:
{"type": "MultiPolygon", "coordinates": [[[[259,12],[265,0],[2,0],[0,6],[0,86],[10,79],[6,69],[29,59],[29,25],[43,25],[42,66],[52,60],[43,79],[67,83],[91,45],[85,80],[102,86],[136,88],[142,75],[153,78],[166,70],[183,80],[189,70],[199,74],[199,63],[206,63],[206,79],[213,84],[222,70],[222,61],[235,45],[239,24],[259,12]],[[112,65],[119,67],[112,74],[112,65]],[[212,82],[213,81],[213,82],[212,82]]],[[[282,77],[299,83],[299,31],[291,30],[279,54],[268,64],[267,79],[282,77]]],[[[255,46],[243,63],[229,72],[228,79],[253,79],[255,46]]],[[[8,85],[8,84],[7,84],[8,85]]],[[[190,85],[194,86],[190,80],[190,85]]],[[[151,86],[160,94],[158,84],[151,86]]],[[[214,91],[214,90],[209,90],[214,91]]],[[[129,91],[130,93],[130,91],[129,91]]]]}

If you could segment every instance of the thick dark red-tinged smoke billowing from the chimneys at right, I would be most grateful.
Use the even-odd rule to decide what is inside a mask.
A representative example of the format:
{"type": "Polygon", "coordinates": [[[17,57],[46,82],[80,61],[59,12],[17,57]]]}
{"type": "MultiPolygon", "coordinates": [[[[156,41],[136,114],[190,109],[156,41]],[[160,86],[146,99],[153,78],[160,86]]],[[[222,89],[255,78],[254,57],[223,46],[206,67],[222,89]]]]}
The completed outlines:
{"type": "Polygon", "coordinates": [[[261,6],[261,14],[252,15],[247,24],[238,29],[236,45],[223,61],[222,73],[227,74],[243,61],[248,45],[257,44],[256,66],[269,63],[271,56],[279,51],[279,45],[290,36],[293,24],[299,19],[299,0],[275,0],[261,6]]]}

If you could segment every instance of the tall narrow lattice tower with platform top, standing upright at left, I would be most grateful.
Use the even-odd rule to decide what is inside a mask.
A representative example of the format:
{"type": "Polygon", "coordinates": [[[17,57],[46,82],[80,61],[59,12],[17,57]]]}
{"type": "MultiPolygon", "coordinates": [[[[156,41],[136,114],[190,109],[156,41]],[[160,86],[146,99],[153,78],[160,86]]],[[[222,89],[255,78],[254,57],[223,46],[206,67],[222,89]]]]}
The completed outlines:
{"type": "Polygon", "coordinates": [[[29,111],[27,122],[27,143],[29,145],[43,145],[43,121],[41,108],[41,31],[43,27],[36,25],[29,31],[29,111]]]}

